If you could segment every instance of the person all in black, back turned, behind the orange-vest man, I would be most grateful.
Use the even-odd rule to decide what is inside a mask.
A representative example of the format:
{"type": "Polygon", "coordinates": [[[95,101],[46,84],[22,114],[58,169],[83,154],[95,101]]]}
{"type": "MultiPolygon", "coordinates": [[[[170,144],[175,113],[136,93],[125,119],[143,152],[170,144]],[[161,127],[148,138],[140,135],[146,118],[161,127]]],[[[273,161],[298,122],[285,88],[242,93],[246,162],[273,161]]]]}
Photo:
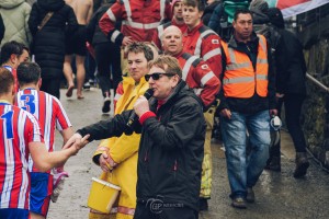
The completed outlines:
{"type": "MultiPolygon", "coordinates": [[[[306,141],[300,126],[300,113],[306,97],[306,62],[303,46],[295,34],[284,30],[284,20],[280,9],[270,8],[268,11],[271,23],[276,26],[283,45],[275,53],[276,61],[276,96],[277,110],[284,104],[285,120],[296,151],[296,168],[294,177],[299,178],[307,173],[309,162],[306,152],[306,141]]],[[[279,115],[280,115],[279,113],[279,115]]],[[[281,170],[280,143],[271,148],[268,169],[281,170]]]]}

